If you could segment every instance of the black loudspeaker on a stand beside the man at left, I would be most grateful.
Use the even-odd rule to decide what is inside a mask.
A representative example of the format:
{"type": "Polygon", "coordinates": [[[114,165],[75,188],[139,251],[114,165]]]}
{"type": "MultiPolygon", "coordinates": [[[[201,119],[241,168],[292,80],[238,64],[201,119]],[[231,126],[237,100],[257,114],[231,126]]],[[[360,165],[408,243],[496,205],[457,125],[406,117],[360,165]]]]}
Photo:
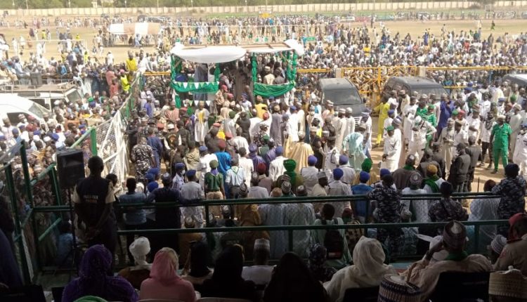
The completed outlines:
{"type": "Polygon", "coordinates": [[[82,150],[57,152],[58,182],[61,188],[73,188],[84,175],[84,154],[82,150]]]}

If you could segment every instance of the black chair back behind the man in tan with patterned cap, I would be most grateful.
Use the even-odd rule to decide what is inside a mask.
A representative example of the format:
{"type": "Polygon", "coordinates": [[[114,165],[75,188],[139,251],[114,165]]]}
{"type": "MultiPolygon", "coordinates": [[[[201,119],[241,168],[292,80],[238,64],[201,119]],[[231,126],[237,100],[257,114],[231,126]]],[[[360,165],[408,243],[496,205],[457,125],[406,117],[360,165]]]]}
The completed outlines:
{"type": "Polygon", "coordinates": [[[448,302],[488,301],[490,273],[445,272],[439,275],[430,300],[448,302]]]}

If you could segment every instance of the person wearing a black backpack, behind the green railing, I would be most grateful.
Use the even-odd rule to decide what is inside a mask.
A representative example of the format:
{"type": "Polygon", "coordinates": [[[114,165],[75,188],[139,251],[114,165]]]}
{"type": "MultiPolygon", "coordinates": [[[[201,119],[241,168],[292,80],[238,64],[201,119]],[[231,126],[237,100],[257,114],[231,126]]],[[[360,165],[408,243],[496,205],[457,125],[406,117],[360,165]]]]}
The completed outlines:
{"type": "MultiPolygon", "coordinates": [[[[324,204],[322,207],[322,218],[315,220],[314,225],[343,225],[344,221],[342,221],[342,218],[335,217],[335,210],[334,207],[331,204],[324,204]]],[[[344,268],[350,261],[351,261],[351,254],[349,253],[348,244],[346,244],[346,230],[339,229],[336,230],[337,233],[342,238],[342,248],[337,251],[330,250],[330,253],[334,253],[334,257],[328,257],[327,261],[325,261],[325,264],[327,266],[331,266],[332,268],[344,268]],[[341,254],[340,258],[335,258],[339,256],[338,254],[341,254]]],[[[327,230],[312,230],[311,236],[313,237],[313,240],[315,243],[324,245],[326,242],[326,236],[327,236],[327,230]]],[[[330,234],[333,233],[334,235],[337,235],[335,232],[330,232],[330,234]]],[[[333,237],[333,236],[332,236],[333,237]]],[[[336,236],[334,236],[336,237],[336,236]]],[[[327,248],[327,247],[326,247],[327,248]]]]}

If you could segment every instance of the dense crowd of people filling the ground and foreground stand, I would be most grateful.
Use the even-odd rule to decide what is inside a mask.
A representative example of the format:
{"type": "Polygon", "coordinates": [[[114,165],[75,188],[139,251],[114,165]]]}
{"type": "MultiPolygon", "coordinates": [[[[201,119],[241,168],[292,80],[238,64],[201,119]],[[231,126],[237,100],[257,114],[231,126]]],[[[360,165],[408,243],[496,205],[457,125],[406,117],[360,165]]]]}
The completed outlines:
{"type": "MultiPolygon", "coordinates": [[[[441,34],[426,30],[423,37],[412,39],[408,34],[403,39],[384,26],[377,31],[365,25],[336,25],[330,27],[332,43],[305,41],[306,55],[299,58],[299,66],[523,66],[525,62],[523,33],[514,38],[505,35],[497,42],[491,35],[483,38],[483,29],[477,25],[472,32],[459,34],[443,28],[441,34]]],[[[177,35],[165,37],[172,44],[177,35]]],[[[319,39],[323,41],[322,34],[319,39]]],[[[181,94],[181,102],[176,103],[166,82],[157,77],[141,79],[143,88],[130,93],[133,77],[169,66],[169,54],[162,46],[157,54],[131,51],[121,64],[108,55],[105,63],[91,61],[82,55],[82,47],[75,44],[79,51],[66,50],[62,60],[46,60],[41,54],[42,59],[32,58],[27,64],[39,68],[41,61],[47,64],[46,70],[71,72],[84,97],[74,104],[54,104],[44,122],[23,114],[16,125],[4,119],[0,137],[3,152],[22,140],[27,144],[30,171],[38,176],[53,162],[57,150],[71,146],[88,126],[112,117],[125,98],[135,100],[136,110],[125,130],[133,177],[103,178],[103,160],[91,157],[90,175],[79,182],[72,196],[75,235],[71,225],[63,223],[57,239],[41,247],[49,251],[41,260],[58,265],[68,262],[74,240],[88,247],[79,277],[67,284],[63,301],[89,295],[109,301],[195,301],[197,296],[342,301],[346,289],[353,287],[380,285],[382,295],[383,284],[393,283],[398,273],[419,288],[419,300],[425,301],[434,294],[443,272],[490,272],[512,265],[527,275],[522,253],[527,240],[523,87],[501,81],[492,72],[436,73],[431,77],[437,81],[455,79],[464,88],[429,96],[399,88],[383,95],[378,105],[353,112],[351,107],[335,108],[332,100],[323,98],[316,76],[299,74],[297,86],[282,96],[255,95],[247,57],[221,65],[216,93],[181,94]],[[379,113],[377,123],[373,112],[379,113]],[[377,165],[372,153],[379,150],[382,157],[377,165]],[[476,167],[486,164],[493,173],[503,166],[499,183],[485,183],[484,190],[493,195],[470,204],[453,197],[456,192],[476,191],[471,187],[476,167]],[[441,198],[405,198],[426,193],[439,193],[441,198]],[[294,203],[294,197],[325,196],[344,197],[344,201],[321,198],[320,203],[294,203]],[[209,216],[203,205],[204,200],[278,197],[292,200],[228,202],[209,206],[209,216]],[[154,209],[135,208],[137,204],[153,204],[154,209]],[[462,223],[497,219],[509,220],[509,225],[474,228],[462,223]],[[292,239],[281,230],[203,232],[215,227],[401,222],[447,224],[444,228],[368,228],[367,233],[346,227],[295,230],[292,239]],[[119,239],[117,228],[136,234],[119,239]],[[148,229],[193,230],[141,233],[148,229]],[[119,253],[123,242],[129,251],[119,253]],[[482,255],[487,252],[489,258],[482,255]],[[119,263],[129,265],[119,272],[122,277],[107,276],[115,267],[116,254],[119,263]],[[384,264],[403,255],[424,258],[405,272],[384,264]],[[270,259],[279,260],[278,265],[269,265],[270,259]],[[244,267],[244,260],[254,265],[244,267]],[[386,275],[391,279],[386,280],[386,275]]],[[[17,70],[24,65],[20,60],[6,60],[0,79],[18,81],[17,70]]],[[[256,70],[263,84],[288,81],[287,65],[278,56],[259,56],[256,70]]],[[[176,76],[198,77],[207,72],[207,65],[183,62],[176,76]]],[[[13,164],[20,176],[20,160],[13,164]]],[[[46,195],[49,188],[40,190],[41,195],[34,195],[51,204],[53,196],[46,195]]],[[[23,201],[20,206],[28,209],[23,201]]],[[[0,214],[8,211],[2,207],[0,214]]],[[[13,224],[9,219],[1,221],[6,225],[0,225],[4,231],[0,242],[5,235],[8,243],[1,248],[11,254],[13,224]]],[[[19,286],[14,258],[1,261],[6,270],[0,270],[0,282],[19,286]]],[[[512,270],[505,277],[514,274],[512,270]]],[[[512,294],[525,297],[524,290],[512,294]]]]}

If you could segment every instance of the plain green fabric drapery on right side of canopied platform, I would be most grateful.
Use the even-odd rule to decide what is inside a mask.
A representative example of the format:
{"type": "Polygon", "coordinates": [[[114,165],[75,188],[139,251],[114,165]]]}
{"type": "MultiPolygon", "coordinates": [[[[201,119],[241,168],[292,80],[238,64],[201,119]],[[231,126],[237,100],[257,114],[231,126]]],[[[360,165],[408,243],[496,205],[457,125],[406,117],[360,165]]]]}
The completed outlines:
{"type": "Polygon", "coordinates": [[[252,82],[254,84],[253,91],[256,96],[263,96],[268,98],[270,96],[282,96],[288,91],[294,88],[294,80],[297,77],[297,58],[298,55],[294,51],[287,52],[287,70],[285,77],[287,78],[286,84],[280,85],[268,85],[258,82],[258,67],[256,64],[256,54],[252,54],[252,82]],[[291,54],[292,53],[292,54],[291,54]]]}

